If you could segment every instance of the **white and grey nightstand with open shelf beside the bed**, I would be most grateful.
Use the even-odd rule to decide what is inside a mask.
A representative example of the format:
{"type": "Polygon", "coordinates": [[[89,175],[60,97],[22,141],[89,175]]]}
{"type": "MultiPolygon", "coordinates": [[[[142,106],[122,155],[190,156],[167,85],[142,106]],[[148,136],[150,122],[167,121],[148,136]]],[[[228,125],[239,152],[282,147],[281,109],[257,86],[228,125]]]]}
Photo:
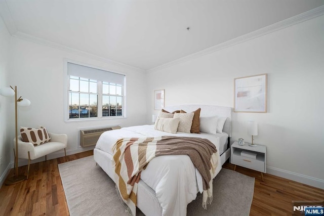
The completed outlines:
{"type": "Polygon", "coordinates": [[[231,163],[235,165],[234,171],[236,165],[260,171],[263,182],[263,172],[266,173],[266,162],[266,146],[258,144],[257,147],[251,147],[248,143],[240,146],[237,141],[235,141],[231,146],[231,163]]]}

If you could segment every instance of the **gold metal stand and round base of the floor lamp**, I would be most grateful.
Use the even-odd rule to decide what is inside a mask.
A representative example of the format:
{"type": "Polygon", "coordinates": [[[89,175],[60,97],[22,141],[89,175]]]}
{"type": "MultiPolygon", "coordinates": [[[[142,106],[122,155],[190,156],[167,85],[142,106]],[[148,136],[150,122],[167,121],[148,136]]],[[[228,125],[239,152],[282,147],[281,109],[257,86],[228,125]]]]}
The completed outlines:
{"type": "Polygon", "coordinates": [[[19,97],[17,99],[17,86],[15,86],[15,89],[12,88],[11,86],[10,86],[10,88],[15,91],[15,120],[16,120],[16,127],[15,127],[15,129],[16,129],[16,145],[15,145],[15,149],[14,149],[14,154],[15,154],[15,167],[14,167],[15,168],[15,174],[14,174],[14,176],[7,178],[7,180],[5,181],[5,185],[14,185],[14,184],[17,184],[19,182],[23,182],[24,180],[27,179],[26,176],[18,174],[18,133],[17,133],[17,131],[18,131],[18,111],[17,111],[18,107],[17,107],[17,105],[18,105],[18,102],[22,101],[23,99],[21,97],[19,97]]]}

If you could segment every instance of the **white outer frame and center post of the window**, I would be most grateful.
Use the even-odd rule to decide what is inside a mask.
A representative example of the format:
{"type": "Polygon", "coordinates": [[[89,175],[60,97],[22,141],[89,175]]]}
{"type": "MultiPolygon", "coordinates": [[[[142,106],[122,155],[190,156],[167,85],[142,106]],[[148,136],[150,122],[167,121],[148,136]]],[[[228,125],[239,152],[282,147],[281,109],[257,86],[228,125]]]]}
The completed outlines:
{"type": "MultiPolygon", "coordinates": [[[[87,77],[83,77],[87,78],[87,77]]],[[[119,71],[110,70],[107,68],[101,68],[94,65],[85,64],[82,62],[77,62],[69,59],[64,59],[64,121],[65,122],[76,122],[76,121],[96,121],[96,120],[114,120],[119,118],[127,118],[126,115],[126,83],[127,83],[127,74],[121,73],[119,71]],[[91,67],[99,70],[104,70],[108,72],[118,73],[121,75],[125,75],[125,82],[123,87],[121,88],[121,95],[123,96],[123,108],[121,116],[102,116],[102,80],[97,80],[97,94],[98,94],[98,101],[97,101],[97,107],[98,107],[98,117],[88,117],[88,118],[69,118],[69,79],[70,76],[68,74],[68,63],[78,64],[86,67],[91,67]]]]}

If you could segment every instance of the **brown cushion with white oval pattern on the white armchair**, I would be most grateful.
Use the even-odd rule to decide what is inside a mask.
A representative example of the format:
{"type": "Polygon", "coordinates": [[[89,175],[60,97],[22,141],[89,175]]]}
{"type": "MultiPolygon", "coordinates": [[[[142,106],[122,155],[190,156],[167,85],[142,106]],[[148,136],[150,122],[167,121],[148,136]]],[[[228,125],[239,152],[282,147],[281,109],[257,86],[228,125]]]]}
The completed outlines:
{"type": "Polygon", "coordinates": [[[34,146],[42,145],[51,140],[45,127],[20,127],[20,134],[23,142],[32,143],[34,146]]]}

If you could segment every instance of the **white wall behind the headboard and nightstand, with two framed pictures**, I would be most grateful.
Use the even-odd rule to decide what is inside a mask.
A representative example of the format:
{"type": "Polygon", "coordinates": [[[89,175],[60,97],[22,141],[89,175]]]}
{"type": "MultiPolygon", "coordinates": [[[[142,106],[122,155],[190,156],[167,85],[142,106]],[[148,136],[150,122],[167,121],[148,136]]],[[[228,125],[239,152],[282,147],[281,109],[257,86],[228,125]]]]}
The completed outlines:
{"type": "MultiPolygon", "coordinates": [[[[268,74],[268,112],[233,113],[232,141],[256,120],[255,143],[267,146],[270,173],[324,188],[324,16],[236,46],[148,73],[153,91],[165,89],[166,106],[210,104],[233,107],[233,79],[268,74]]],[[[148,121],[151,121],[150,119],[148,121]]]]}

